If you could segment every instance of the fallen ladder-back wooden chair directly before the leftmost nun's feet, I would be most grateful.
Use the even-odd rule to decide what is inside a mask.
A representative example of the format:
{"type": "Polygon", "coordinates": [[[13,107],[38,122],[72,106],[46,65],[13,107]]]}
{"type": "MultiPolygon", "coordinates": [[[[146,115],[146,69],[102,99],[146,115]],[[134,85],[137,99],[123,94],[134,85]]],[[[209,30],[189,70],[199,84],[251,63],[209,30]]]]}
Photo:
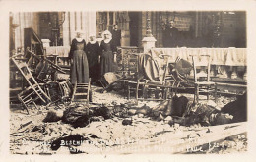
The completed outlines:
{"type": "Polygon", "coordinates": [[[71,98],[71,102],[74,103],[86,103],[92,101],[92,93],[91,93],[91,78],[88,83],[75,83],[73,88],[73,94],[71,98]]]}

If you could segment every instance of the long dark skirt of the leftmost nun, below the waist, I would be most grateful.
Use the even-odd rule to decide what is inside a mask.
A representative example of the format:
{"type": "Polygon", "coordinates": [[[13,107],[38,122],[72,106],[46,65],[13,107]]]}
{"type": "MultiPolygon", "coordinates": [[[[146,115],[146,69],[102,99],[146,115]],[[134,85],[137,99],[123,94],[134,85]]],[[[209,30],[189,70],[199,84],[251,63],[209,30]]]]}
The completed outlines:
{"type": "Polygon", "coordinates": [[[71,83],[88,83],[89,68],[87,55],[83,50],[76,50],[73,54],[73,64],[70,69],[71,83]]]}

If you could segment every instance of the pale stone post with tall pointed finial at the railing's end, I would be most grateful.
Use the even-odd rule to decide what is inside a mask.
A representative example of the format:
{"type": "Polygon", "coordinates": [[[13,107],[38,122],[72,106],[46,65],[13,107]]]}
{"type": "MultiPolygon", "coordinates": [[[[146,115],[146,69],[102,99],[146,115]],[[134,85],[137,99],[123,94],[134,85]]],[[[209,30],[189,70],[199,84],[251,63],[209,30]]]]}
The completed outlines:
{"type": "Polygon", "coordinates": [[[147,11],[146,13],[146,26],[147,26],[147,30],[146,30],[146,37],[144,37],[142,39],[142,46],[143,46],[143,52],[147,53],[151,48],[155,47],[155,42],[157,41],[151,32],[151,19],[150,19],[150,13],[147,11]]]}

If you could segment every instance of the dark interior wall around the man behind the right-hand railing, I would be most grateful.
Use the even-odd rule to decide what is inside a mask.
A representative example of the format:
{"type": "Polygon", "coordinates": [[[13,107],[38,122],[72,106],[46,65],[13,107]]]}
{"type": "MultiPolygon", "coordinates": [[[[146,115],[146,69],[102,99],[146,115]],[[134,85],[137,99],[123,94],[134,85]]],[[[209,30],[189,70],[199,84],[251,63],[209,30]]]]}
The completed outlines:
{"type": "MultiPolygon", "coordinates": [[[[142,19],[146,20],[145,13],[142,12],[142,19]]],[[[156,47],[162,47],[161,23],[172,19],[179,30],[179,46],[246,47],[246,13],[243,11],[150,12],[150,19],[156,47]]],[[[145,20],[141,20],[142,27],[139,27],[142,34],[146,33],[145,20]]]]}

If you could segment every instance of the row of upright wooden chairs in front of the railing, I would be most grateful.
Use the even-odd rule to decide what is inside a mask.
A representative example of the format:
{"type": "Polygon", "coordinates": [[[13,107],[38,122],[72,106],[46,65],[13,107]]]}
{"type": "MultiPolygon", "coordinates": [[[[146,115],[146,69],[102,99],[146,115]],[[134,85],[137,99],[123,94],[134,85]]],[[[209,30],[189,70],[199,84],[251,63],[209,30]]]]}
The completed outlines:
{"type": "Polygon", "coordinates": [[[195,55],[191,55],[192,62],[177,58],[174,63],[169,62],[168,55],[153,58],[150,54],[126,52],[122,57],[126,60],[122,62],[122,67],[125,69],[121,74],[128,75],[124,78],[127,99],[166,100],[178,91],[192,91],[194,102],[198,102],[202,94],[207,95],[207,100],[212,94],[216,101],[217,84],[211,81],[210,77],[210,55],[201,56],[201,59],[205,57],[204,64],[201,64],[202,62],[195,55]],[[145,61],[142,61],[142,58],[147,58],[147,63],[142,63],[145,61]],[[160,69],[159,75],[151,74],[158,69],[160,69]],[[191,71],[193,71],[193,81],[187,78],[191,71]],[[156,76],[157,78],[154,78],[156,76]]]}

